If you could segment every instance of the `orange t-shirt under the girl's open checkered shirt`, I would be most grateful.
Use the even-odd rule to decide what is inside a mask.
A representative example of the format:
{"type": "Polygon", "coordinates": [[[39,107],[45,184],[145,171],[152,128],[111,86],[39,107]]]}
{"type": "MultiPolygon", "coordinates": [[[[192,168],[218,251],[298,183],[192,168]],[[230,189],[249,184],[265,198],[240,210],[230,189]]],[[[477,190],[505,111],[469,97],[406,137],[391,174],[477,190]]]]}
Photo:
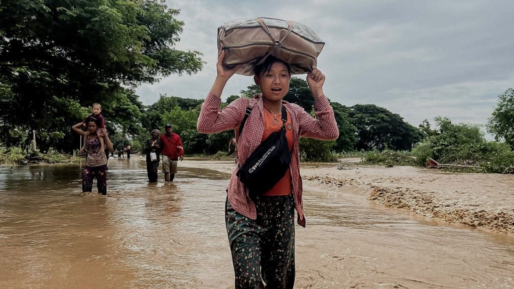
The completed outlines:
{"type": "MultiPolygon", "coordinates": [[[[262,136],[262,140],[264,141],[271,133],[278,132],[282,127],[282,114],[278,114],[277,118],[279,119],[279,123],[273,124],[271,120],[274,115],[264,109],[264,134],[262,136]]],[[[287,143],[289,145],[289,151],[292,151],[293,139],[292,139],[292,121],[289,114],[287,114],[287,122],[286,122],[286,138],[287,143]]],[[[265,196],[281,196],[288,195],[291,193],[291,171],[287,170],[284,177],[279,180],[277,184],[275,184],[269,191],[264,193],[265,196]]]]}

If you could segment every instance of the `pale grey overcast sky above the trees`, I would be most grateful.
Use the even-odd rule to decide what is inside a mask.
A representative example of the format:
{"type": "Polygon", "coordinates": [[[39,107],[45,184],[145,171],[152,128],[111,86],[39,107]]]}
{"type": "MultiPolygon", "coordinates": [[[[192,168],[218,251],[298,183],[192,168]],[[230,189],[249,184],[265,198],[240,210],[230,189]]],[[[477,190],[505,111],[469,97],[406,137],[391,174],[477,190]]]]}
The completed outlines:
{"type": "MultiPolygon", "coordinates": [[[[372,103],[417,127],[447,116],[485,124],[498,95],[514,86],[514,1],[203,1],[168,0],[185,23],[176,48],[207,62],[196,75],[172,75],[136,89],[144,104],[160,94],[203,99],[216,76],[217,27],[272,17],[300,22],[325,42],[318,68],[324,92],[352,106],[372,103]]],[[[305,75],[298,77],[305,78],[305,75]]],[[[235,75],[222,99],[253,84],[235,75]]]]}

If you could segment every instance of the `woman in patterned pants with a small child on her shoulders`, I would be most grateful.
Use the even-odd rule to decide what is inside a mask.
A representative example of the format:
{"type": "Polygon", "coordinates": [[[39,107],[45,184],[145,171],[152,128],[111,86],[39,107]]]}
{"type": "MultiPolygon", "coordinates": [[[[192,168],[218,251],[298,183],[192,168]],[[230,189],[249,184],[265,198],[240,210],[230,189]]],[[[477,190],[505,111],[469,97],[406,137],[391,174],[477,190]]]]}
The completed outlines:
{"type": "Polygon", "coordinates": [[[97,179],[98,193],[107,194],[107,158],[104,150],[113,149],[113,143],[105,129],[99,129],[98,120],[91,117],[86,121],[87,132],[82,131],[83,122],[71,127],[77,134],[86,138],[85,150],[87,152],[86,166],[82,171],[82,192],[93,190],[93,179],[97,179]],[[98,133],[98,135],[97,135],[98,133]],[[104,146],[105,142],[105,146],[104,146]]]}

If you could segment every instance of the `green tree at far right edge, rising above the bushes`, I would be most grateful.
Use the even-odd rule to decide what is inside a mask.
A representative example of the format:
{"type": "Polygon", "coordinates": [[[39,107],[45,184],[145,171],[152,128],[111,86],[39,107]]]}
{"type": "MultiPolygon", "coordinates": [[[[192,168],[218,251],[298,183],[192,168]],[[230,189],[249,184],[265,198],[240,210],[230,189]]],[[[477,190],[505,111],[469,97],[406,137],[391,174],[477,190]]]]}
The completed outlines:
{"type": "Polygon", "coordinates": [[[498,98],[498,104],[487,123],[487,130],[494,134],[497,141],[504,139],[514,150],[514,89],[507,89],[498,98]]]}

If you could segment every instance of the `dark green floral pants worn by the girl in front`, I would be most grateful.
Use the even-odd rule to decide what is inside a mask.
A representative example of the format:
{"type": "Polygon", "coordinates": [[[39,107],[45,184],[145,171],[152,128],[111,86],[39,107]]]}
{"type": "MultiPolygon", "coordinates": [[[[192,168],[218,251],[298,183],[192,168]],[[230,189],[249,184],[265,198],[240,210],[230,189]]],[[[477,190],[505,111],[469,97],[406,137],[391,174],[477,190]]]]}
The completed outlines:
{"type": "Polygon", "coordinates": [[[260,196],[254,203],[256,220],[236,212],[226,201],[225,222],[235,288],[292,288],[295,283],[293,196],[260,196]]]}

